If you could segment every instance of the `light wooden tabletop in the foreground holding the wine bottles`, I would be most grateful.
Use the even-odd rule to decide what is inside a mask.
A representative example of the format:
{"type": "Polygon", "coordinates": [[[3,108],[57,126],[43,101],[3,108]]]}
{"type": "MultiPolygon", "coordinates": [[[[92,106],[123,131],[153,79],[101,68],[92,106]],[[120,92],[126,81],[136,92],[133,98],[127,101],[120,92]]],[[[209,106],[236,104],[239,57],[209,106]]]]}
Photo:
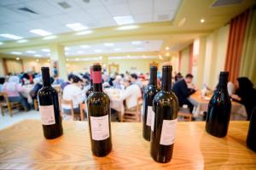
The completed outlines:
{"type": "Polygon", "coordinates": [[[248,122],[230,122],[223,139],[205,132],[205,122],[178,122],[172,161],[149,155],[139,122],[113,122],[113,150],[91,155],[87,122],[64,122],[64,135],[44,139],[41,122],[26,120],[0,131],[0,169],[256,169],[256,153],[247,149],[248,122]]]}

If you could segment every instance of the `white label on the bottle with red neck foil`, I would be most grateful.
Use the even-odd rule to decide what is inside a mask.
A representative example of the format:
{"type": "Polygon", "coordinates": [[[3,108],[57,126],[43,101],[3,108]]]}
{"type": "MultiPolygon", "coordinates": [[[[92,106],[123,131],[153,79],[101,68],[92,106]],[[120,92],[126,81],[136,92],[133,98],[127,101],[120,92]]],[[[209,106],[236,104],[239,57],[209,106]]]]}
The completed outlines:
{"type": "Polygon", "coordinates": [[[109,138],[108,115],[90,116],[91,137],[94,140],[109,138]]]}

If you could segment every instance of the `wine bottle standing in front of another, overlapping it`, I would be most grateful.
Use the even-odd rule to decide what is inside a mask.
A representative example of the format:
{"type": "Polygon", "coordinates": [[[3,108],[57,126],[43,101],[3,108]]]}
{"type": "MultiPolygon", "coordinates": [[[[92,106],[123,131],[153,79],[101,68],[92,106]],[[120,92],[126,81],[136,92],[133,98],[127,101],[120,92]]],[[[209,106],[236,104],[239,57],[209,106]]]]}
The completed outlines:
{"type": "Polygon", "coordinates": [[[154,96],[151,115],[150,154],[154,161],[171,161],[177,127],[178,102],[172,93],[172,65],[162,68],[161,90],[154,96]]]}

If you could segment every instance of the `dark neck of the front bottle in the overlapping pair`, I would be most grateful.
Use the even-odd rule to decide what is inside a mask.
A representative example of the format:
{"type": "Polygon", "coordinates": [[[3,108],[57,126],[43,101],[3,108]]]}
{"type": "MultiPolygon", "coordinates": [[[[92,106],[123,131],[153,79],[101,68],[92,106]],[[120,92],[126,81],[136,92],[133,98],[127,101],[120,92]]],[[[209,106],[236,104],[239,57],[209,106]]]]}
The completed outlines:
{"type": "Polygon", "coordinates": [[[163,68],[161,88],[166,92],[172,91],[172,68],[163,68]]]}

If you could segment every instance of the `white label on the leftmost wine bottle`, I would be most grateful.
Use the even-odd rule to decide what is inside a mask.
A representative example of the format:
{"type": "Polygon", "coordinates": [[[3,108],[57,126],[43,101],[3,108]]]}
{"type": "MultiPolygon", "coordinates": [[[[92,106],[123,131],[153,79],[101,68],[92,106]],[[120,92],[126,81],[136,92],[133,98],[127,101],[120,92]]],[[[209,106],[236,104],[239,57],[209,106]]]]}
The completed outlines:
{"type": "Polygon", "coordinates": [[[41,115],[41,122],[43,125],[55,124],[54,105],[39,105],[39,112],[41,115]]]}

